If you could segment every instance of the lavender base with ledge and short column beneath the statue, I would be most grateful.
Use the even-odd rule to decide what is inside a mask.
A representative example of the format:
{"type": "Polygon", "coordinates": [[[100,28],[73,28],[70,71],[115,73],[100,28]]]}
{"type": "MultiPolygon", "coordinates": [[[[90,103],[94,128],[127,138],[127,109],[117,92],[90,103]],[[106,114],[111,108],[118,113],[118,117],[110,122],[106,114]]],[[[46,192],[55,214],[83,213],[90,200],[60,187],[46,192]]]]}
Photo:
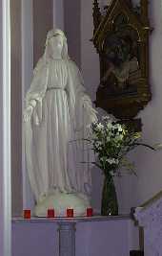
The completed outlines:
{"type": "Polygon", "coordinates": [[[12,256],[129,256],[138,249],[130,216],[12,219],[12,256]]]}

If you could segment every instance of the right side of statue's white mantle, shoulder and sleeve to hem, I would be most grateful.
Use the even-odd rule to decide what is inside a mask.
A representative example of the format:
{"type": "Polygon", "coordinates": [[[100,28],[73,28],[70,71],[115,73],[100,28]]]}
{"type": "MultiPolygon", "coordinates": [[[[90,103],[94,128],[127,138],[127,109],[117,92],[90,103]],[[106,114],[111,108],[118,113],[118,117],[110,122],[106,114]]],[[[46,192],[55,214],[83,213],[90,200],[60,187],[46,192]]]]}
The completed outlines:
{"type": "Polygon", "coordinates": [[[86,195],[91,195],[91,163],[94,155],[91,152],[91,144],[88,143],[91,128],[89,125],[97,120],[96,111],[91,105],[91,99],[84,87],[84,81],[79,69],[73,61],[69,61],[69,81],[67,85],[68,101],[71,112],[71,123],[74,127],[74,141],[76,141],[77,164],[82,163],[82,184],[86,195]],[[84,139],[84,140],[83,140],[84,139]],[[85,163],[85,164],[84,164],[85,163]]]}

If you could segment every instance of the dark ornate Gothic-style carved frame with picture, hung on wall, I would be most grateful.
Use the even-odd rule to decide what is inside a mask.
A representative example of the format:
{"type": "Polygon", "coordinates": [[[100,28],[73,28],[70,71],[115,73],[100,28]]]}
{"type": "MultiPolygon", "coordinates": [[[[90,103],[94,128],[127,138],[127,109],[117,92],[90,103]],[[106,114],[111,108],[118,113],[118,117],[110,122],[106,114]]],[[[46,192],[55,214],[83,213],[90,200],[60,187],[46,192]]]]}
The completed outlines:
{"type": "Polygon", "coordinates": [[[130,122],[152,98],[148,1],[133,6],[131,0],[112,0],[102,14],[94,0],[93,22],[92,41],[100,59],[96,106],[130,122]]]}

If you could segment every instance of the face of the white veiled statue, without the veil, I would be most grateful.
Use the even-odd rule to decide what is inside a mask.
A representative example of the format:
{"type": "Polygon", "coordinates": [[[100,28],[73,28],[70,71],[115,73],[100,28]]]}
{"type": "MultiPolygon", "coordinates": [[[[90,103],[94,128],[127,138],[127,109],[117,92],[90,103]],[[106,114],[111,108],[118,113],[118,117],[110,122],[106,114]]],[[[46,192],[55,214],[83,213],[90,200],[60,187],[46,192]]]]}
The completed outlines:
{"type": "Polygon", "coordinates": [[[63,37],[62,35],[55,35],[52,36],[49,42],[51,46],[51,54],[54,55],[54,53],[60,54],[63,49],[63,37]]]}

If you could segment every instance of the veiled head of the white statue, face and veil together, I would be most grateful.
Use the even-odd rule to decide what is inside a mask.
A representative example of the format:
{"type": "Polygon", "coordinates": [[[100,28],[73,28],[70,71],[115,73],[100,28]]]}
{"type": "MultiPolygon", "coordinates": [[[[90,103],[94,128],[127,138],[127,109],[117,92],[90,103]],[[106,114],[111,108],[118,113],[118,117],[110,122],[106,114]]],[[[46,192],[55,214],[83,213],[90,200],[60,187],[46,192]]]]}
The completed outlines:
{"type": "Polygon", "coordinates": [[[60,54],[62,58],[69,58],[68,57],[68,44],[67,38],[63,31],[56,29],[51,30],[48,32],[47,39],[46,39],[46,53],[48,56],[60,54]]]}

